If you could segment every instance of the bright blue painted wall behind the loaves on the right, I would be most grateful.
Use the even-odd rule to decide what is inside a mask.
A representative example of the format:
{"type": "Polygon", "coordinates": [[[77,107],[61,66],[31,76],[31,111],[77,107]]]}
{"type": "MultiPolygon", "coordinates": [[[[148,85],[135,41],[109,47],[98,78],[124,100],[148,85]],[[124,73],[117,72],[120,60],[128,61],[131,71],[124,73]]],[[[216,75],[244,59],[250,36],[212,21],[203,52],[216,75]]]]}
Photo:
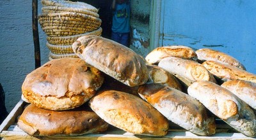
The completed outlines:
{"type": "Polygon", "coordinates": [[[256,74],[256,1],[163,0],[160,45],[212,48],[256,74]]]}

